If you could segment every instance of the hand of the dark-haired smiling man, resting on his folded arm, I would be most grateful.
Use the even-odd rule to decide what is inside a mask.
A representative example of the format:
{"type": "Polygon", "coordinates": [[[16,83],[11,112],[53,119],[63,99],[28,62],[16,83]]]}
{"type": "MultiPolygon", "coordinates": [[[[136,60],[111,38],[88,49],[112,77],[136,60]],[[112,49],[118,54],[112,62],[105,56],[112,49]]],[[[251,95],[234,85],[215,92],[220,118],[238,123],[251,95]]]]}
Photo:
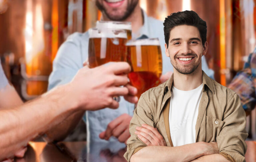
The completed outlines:
{"type": "Polygon", "coordinates": [[[136,127],[135,134],[139,139],[147,146],[166,146],[166,142],[163,136],[158,132],[157,128],[154,128],[148,124],[142,124],[142,127],[136,127]]]}

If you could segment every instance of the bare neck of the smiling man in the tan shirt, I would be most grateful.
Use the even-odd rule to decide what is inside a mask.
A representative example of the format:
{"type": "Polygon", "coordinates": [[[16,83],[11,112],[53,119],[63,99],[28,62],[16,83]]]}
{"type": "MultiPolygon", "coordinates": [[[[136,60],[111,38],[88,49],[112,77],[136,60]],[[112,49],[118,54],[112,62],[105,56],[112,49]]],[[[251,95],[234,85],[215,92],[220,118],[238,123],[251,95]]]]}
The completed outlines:
{"type": "Polygon", "coordinates": [[[175,88],[182,91],[189,91],[199,87],[202,83],[203,83],[202,68],[197,67],[197,69],[191,74],[181,74],[174,68],[173,86],[175,88]]]}

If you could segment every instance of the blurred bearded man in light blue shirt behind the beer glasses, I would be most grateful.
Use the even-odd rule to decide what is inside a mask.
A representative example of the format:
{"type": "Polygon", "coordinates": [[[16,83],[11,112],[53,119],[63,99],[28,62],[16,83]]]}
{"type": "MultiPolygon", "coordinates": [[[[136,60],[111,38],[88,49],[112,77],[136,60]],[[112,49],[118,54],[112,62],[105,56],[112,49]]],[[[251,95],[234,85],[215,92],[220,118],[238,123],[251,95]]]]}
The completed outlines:
{"type": "MultiPolygon", "coordinates": [[[[162,82],[169,79],[173,67],[164,52],[163,22],[148,17],[140,8],[139,0],[96,0],[96,5],[102,12],[101,20],[131,22],[132,39],[159,38],[163,58],[162,74],[164,74],[160,79],[162,82]]],[[[88,32],[75,33],[61,45],[53,62],[53,71],[49,78],[49,90],[70,82],[76,72],[83,67],[83,62],[88,58],[88,42],[88,32]]],[[[202,69],[207,75],[214,78],[214,72],[208,69],[205,57],[202,57],[202,69]]],[[[137,99],[129,103],[121,97],[119,109],[87,111],[85,114],[84,112],[77,113],[67,119],[65,124],[58,125],[58,131],[52,130],[48,135],[52,137],[52,140],[63,139],[70,132],[66,131],[67,125],[69,125],[69,130],[72,130],[83,117],[87,124],[88,141],[104,142],[102,139],[105,139],[110,142],[126,142],[130,136],[128,128],[136,102],[137,99]]]]}

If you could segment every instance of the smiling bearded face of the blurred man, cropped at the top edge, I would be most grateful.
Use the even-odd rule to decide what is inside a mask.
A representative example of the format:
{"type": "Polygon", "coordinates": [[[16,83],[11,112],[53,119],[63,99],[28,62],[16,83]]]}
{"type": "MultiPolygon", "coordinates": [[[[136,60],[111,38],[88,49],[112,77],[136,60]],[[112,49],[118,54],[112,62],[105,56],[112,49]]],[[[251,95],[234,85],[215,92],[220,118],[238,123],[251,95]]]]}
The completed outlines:
{"type": "Polygon", "coordinates": [[[96,5],[112,21],[127,19],[139,0],[96,0],[96,5]]]}

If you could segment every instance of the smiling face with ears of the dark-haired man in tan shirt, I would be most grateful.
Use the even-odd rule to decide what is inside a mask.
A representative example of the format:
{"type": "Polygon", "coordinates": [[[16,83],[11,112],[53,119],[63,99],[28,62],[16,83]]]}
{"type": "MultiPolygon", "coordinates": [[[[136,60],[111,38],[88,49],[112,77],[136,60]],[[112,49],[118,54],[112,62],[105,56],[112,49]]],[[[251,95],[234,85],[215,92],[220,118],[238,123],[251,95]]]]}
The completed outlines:
{"type": "Polygon", "coordinates": [[[190,74],[202,68],[201,57],[206,54],[208,43],[202,44],[196,27],[180,25],[171,30],[169,45],[166,47],[165,44],[166,56],[170,57],[173,67],[181,74],[190,74]]]}

